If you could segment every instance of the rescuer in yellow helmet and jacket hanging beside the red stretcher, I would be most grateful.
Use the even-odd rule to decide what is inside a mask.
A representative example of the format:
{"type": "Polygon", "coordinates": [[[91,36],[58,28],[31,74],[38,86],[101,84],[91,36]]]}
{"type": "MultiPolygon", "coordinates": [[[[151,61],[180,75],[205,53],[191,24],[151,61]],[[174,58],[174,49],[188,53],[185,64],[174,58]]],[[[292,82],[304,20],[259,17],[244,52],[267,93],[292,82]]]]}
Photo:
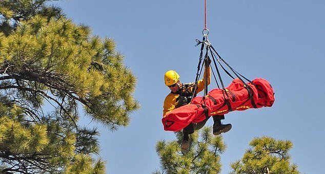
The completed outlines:
{"type": "MultiPolygon", "coordinates": [[[[210,60],[211,62],[211,60],[210,60]]],[[[210,62],[208,64],[210,64],[210,62]]],[[[204,77],[201,80],[198,80],[196,91],[198,92],[204,90],[205,82],[204,79],[207,76],[207,83],[210,84],[211,75],[210,75],[210,67],[205,69],[204,77]]],[[[181,83],[179,81],[179,75],[176,71],[170,70],[165,73],[165,84],[171,90],[171,92],[166,96],[164,101],[164,111],[163,116],[165,117],[167,113],[171,112],[177,107],[182,105],[186,105],[191,102],[195,83],[181,83]]],[[[215,115],[213,117],[213,135],[220,135],[221,133],[226,133],[231,129],[231,124],[221,124],[221,120],[225,119],[224,115],[215,115]]],[[[181,142],[181,149],[187,150],[190,147],[190,138],[189,135],[194,133],[194,130],[198,130],[202,128],[207,120],[210,117],[207,117],[204,121],[199,123],[191,123],[187,127],[183,129],[183,139],[181,142]]]]}

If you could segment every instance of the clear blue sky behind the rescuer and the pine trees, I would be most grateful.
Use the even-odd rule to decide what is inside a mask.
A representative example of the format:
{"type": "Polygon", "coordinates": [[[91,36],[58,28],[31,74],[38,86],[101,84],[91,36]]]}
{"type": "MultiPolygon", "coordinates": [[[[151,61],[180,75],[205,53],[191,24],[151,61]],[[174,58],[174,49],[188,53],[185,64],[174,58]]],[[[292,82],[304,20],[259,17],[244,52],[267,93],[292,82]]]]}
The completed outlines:
{"type": "MultiPolygon", "coordinates": [[[[243,75],[269,80],[276,93],[270,108],[226,115],[224,122],[233,128],[223,135],[228,148],[221,155],[222,173],[262,135],[291,140],[292,162],[299,171],[320,173],[325,162],[325,1],[207,1],[213,46],[243,75]]],[[[175,138],[161,124],[162,102],[169,93],[163,76],[172,69],[182,82],[194,81],[199,55],[194,45],[202,38],[204,1],[54,3],[76,24],[90,26],[93,34],[114,38],[138,79],[134,97],[141,109],[131,115],[130,125],[116,132],[96,125],[107,172],[150,173],[159,168],[156,142],[175,138]]],[[[228,85],[231,79],[224,80],[228,85]]]]}

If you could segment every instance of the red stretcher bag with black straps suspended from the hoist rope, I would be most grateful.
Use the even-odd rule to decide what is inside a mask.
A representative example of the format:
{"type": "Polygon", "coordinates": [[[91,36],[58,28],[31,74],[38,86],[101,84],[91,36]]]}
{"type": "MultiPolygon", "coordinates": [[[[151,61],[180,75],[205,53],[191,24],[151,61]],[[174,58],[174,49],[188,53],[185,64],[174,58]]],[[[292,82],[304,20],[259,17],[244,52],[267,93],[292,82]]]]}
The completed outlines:
{"type": "Polygon", "coordinates": [[[257,78],[247,85],[248,88],[241,80],[234,79],[226,88],[228,95],[225,90],[213,89],[205,97],[195,97],[190,104],[175,108],[162,118],[164,129],[179,131],[191,122],[198,123],[205,120],[204,107],[208,111],[208,116],[212,116],[227,114],[230,111],[243,111],[254,106],[259,108],[273,105],[273,88],[267,80],[257,78]],[[252,97],[249,97],[249,94],[252,97]]]}

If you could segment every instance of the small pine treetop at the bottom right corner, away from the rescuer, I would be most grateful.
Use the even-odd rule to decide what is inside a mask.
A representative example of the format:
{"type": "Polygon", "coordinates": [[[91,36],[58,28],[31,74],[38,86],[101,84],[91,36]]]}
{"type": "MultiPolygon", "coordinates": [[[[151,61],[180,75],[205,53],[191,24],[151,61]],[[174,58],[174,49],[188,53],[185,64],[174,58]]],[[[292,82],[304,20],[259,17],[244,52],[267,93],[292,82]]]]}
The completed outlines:
{"type": "Polygon", "coordinates": [[[290,163],[291,141],[260,137],[254,138],[250,146],[241,160],[231,164],[231,173],[300,173],[298,166],[290,163]]]}

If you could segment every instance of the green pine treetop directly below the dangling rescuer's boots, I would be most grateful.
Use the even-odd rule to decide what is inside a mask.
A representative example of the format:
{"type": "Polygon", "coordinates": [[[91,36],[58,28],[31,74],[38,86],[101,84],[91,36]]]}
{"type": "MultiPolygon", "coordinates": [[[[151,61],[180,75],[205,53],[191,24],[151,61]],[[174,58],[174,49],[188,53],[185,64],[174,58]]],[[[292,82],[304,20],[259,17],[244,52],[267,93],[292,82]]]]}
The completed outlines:
{"type": "Polygon", "coordinates": [[[161,140],[156,145],[161,170],[153,173],[220,173],[220,154],[226,149],[221,136],[213,136],[211,127],[204,127],[191,135],[191,146],[187,153],[180,153],[182,134],[176,133],[177,140],[161,140]],[[200,134],[200,136],[198,136],[200,134]]]}

